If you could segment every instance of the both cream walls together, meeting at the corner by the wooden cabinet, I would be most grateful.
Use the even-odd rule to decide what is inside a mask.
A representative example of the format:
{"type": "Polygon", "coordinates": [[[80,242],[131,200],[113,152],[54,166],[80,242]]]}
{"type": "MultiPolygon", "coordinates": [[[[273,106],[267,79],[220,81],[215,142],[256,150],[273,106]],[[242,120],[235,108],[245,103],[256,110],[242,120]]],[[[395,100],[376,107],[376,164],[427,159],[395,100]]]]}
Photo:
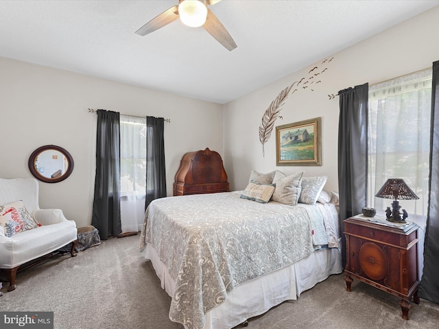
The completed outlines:
{"type": "Polygon", "coordinates": [[[300,90],[285,101],[283,119],[275,125],[322,117],[321,167],[276,167],[275,130],[265,144],[265,157],[259,143],[263,113],[283,88],[307,75],[309,68],[221,106],[0,58],[0,177],[32,177],[27,159],[34,149],[47,144],[64,147],[75,160],[73,174],[56,184],[40,182],[40,207],[62,208],[78,227],[88,225],[97,116],[87,109],[104,108],[171,119],[165,123],[168,195],[182,155],[205,147],[222,154],[233,190],[246,187],[251,169],[277,168],[285,173],[305,170],[308,176],[327,175],[326,188],[337,191],[338,98],[329,100],[327,95],[430,67],[439,60],[439,42],[429,32],[439,30],[438,18],[439,8],[434,8],[328,56],[334,60],[320,86],[313,93],[300,90]]]}

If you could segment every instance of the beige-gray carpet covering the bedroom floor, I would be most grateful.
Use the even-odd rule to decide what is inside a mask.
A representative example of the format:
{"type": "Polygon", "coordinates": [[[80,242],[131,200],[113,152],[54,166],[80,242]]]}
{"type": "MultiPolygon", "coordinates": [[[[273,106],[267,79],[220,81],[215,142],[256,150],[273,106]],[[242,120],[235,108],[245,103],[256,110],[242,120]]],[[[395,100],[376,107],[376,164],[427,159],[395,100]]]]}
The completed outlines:
{"type": "MultiPolygon", "coordinates": [[[[26,269],[17,275],[15,291],[3,284],[0,310],[54,311],[56,329],[183,328],[169,320],[171,298],[138,245],[139,236],[109,239],[75,258],[55,256],[26,269]]],[[[438,304],[411,303],[405,321],[397,297],[357,280],[348,293],[343,278],[331,276],[297,301],[250,319],[247,328],[438,328],[438,304]]]]}

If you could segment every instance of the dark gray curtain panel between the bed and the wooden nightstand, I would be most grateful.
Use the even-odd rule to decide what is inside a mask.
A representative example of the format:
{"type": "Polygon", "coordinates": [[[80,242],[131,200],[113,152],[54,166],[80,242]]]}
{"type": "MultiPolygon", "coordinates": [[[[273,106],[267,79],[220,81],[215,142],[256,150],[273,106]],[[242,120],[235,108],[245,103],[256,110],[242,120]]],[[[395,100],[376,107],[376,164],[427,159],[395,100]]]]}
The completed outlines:
{"type": "Polygon", "coordinates": [[[361,213],[366,206],[368,178],[368,93],[363,84],[340,90],[338,123],[338,191],[343,266],[346,265],[344,219],[361,213]]]}

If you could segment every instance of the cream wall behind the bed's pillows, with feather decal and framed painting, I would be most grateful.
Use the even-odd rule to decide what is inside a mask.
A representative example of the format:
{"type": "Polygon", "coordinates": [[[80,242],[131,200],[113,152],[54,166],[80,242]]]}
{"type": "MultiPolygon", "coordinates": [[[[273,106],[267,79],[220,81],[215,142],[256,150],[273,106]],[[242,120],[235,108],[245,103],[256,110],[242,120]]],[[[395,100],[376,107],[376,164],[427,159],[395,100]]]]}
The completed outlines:
{"type": "MultiPolygon", "coordinates": [[[[250,170],[268,172],[274,169],[285,173],[305,170],[305,175],[327,175],[325,188],[338,191],[337,130],[339,99],[329,100],[344,88],[375,84],[383,80],[431,67],[439,60],[439,42],[432,37],[439,30],[439,8],[420,14],[364,42],[335,53],[328,70],[321,75],[314,92],[298,90],[285,101],[275,126],[322,117],[322,166],[276,167],[275,128],[265,144],[265,157],[259,142],[259,124],[265,110],[283,88],[301,77],[308,76],[322,60],[278,80],[264,88],[231,101],[224,106],[224,162],[235,190],[246,187],[250,170]]],[[[337,36],[334,36],[336,38],[337,36]]],[[[287,41],[286,41],[287,42],[287,41]]],[[[300,50],[298,50],[300,51],[300,50]]]]}

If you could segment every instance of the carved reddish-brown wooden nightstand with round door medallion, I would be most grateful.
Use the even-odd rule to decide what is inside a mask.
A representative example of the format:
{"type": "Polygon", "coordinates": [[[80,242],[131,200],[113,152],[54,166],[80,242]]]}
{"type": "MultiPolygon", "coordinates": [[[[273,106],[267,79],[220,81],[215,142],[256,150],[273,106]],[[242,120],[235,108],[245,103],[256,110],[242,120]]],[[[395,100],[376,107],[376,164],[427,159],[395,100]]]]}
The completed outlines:
{"type": "Polygon", "coordinates": [[[408,320],[410,299],[419,304],[418,225],[387,226],[351,217],[344,221],[344,235],[346,290],[351,291],[357,278],[400,297],[403,319],[408,320]]]}

